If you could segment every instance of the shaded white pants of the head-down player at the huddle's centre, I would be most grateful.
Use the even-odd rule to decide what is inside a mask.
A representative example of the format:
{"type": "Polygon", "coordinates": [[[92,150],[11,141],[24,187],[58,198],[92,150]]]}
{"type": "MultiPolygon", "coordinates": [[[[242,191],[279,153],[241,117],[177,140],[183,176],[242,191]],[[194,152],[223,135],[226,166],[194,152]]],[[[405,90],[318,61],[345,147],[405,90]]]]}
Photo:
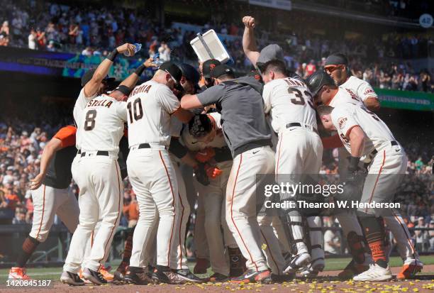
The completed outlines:
{"type": "Polygon", "coordinates": [[[223,172],[216,179],[209,179],[209,185],[204,186],[196,180],[195,184],[204,205],[204,228],[211,268],[213,272],[228,276],[229,262],[225,255],[225,246],[237,247],[226,223],[224,204],[226,202],[226,186],[232,168],[232,161],[220,162],[217,167],[223,172]]]}

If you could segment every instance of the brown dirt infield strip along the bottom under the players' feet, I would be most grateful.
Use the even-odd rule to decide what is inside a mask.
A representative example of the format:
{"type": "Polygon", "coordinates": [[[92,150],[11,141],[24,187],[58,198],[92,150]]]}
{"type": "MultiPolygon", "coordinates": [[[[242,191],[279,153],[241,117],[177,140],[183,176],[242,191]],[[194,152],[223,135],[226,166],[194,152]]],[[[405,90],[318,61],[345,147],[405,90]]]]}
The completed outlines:
{"type": "MultiPolygon", "coordinates": [[[[396,274],[399,267],[392,268],[392,272],[396,274]]],[[[277,293],[277,292],[434,292],[434,265],[426,265],[423,272],[433,274],[421,275],[418,280],[412,281],[391,281],[391,282],[354,282],[338,280],[335,275],[338,271],[328,271],[321,273],[321,277],[314,280],[296,279],[291,282],[282,284],[230,284],[230,283],[217,283],[217,284],[185,284],[185,285],[146,285],[136,286],[131,284],[115,285],[108,284],[104,286],[86,285],[84,287],[69,287],[60,282],[55,282],[54,288],[51,289],[0,289],[0,292],[28,292],[28,293],[76,293],[76,292],[89,292],[89,293],[102,293],[102,292],[120,292],[120,293],[136,293],[136,292],[186,292],[186,293],[199,293],[199,292],[212,292],[212,293],[228,293],[228,292],[263,292],[263,293],[277,293]]]]}

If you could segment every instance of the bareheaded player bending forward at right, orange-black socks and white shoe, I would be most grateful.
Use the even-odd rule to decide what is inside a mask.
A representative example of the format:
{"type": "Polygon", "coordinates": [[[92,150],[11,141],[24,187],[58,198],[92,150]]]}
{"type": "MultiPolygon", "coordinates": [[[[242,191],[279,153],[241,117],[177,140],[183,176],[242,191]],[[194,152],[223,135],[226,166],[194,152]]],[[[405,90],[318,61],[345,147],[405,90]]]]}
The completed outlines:
{"type": "MultiPolygon", "coordinates": [[[[327,96],[330,94],[328,92],[328,86],[324,85],[318,96],[327,96]]],[[[338,131],[345,148],[351,153],[350,173],[357,172],[360,160],[369,163],[369,175],[374,175],[376,179],[365,181],[360,202],[382,202],[387,199],[387,195],[394,194],[406,172],[407,157],[386,124],[371,111],[349,103],[339,104],[335,108],[320,106],[318,114],[324,128],[338,131]]],[[[362,206],[357,209],[357,213],[360,215],[374,264],[353,279],[391,280],[392,275],[384,252],[384,230],[376,217],[377,209],[362,206]]]]}

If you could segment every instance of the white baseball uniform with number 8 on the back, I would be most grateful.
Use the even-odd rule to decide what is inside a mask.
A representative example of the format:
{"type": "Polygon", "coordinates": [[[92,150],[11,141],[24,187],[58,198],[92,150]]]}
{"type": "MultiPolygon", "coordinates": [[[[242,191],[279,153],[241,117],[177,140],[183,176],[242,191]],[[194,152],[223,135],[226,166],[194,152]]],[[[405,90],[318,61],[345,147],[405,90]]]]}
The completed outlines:
{"type": "Polygon", "coordinates": [[[99,270],[109,255],[121,219],[123,182],[117,159],[127,119],[126,103],[102,94],[87,103],[79,119],[81,158],[74,174],[80,189],[79,226],[72,236],[64,266],[64,270],[75,273],[82,263],[91,270],[99,270]],[[84,243],[100,218],[91,253],[84,259],[84,243]]]}

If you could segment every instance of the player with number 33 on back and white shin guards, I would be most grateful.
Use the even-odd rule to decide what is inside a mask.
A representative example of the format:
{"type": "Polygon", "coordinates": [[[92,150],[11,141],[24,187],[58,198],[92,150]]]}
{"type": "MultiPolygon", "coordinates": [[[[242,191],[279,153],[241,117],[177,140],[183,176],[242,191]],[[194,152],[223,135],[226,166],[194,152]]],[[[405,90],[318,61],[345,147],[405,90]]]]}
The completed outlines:
{"type": "MultiPolygon", "coordinates": [[[[265,114],[269,114],[272,128],[279,136],[275,157],[277,182],[301,182],[302,175],[318,174],[323,145],[318,136],[313,98],[308,87],[304,82],[287,77],[284,62],[280,60],[265,63],[262,79],[265,82],[262,92],[265,114]]],[[[284,198],[287,197],[286,194],[281,194],[281,197],[281,200],[287,199],[284,198]]],[[[297,210],[285,213],[283,222],[291,226],[291,231],[286,229],[286,236],[296,248],[286,271],[294,272],[310,263],[311,273],[318,274],[324,268],[324,250],[321,246],[323,233],[310,233],[312,255],[309,255],[304,241],[301,214],[297,210]]],[[[311,227],[321,227],[319,216],[308,217],[307,221],[311,227]]]]}

